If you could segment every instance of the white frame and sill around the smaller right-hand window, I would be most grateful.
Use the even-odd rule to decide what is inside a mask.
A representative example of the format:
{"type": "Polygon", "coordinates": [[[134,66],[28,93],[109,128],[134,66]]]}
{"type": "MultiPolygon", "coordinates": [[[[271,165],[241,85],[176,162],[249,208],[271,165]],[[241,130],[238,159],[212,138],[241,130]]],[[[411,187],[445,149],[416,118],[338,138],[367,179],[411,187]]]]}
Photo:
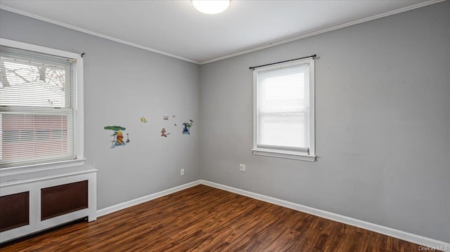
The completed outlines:
{"type": "Polygon", "coordinates": [[[292,60],[289,62],[281,62],[273,65],[266,65],[257,67],[253,70],[253,148],[252,152],[255,155],[262,155],[267,157],[279,157],[284,159],[297,159],[303,161],[316,161],[316,138],[315,138],[315,102],[314,102],[314,58],[304,58],[301,60],[292,60]],[[274,69],[282,69],[286,67],[294,67],[300,65],[309,65],[309,149],[308,152],[295,150],[290,147],[265,147],[264,145],[257,145],[258,135],[258,119],[257,119],[257,80],[258,73],[274,69]]]}

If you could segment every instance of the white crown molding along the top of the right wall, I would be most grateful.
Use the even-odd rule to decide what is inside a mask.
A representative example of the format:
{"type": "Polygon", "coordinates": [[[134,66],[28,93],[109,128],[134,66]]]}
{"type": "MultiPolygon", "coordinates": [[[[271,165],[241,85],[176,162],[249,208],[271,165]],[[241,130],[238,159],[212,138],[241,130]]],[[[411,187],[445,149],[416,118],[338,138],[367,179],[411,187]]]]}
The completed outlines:
{"type": "Polygon", "coordinates": [[[262,50],[262,49],[265,49],[265,48],[270,48],[270,47],[273,47],[273,46],[286,44],[286,43],[289,43],[289,42],[292,42],[292,41],[296,41],[296,40],[299,40],[299,39],[304,39],[304,38],[307,38],[307,37],[316,36],[316,35],[319,35],[319,34],[322,34],[322,33],[325,33],[325,32],[332,32],[335,29],[341,29],[341,28],[352,26],[352,25],[359,25],[359,24],[361,24],[363,22],[368,22],[368,21],[375,20],[375,19],[378,19],[378,18],[385,18],[385,17],[390,16],[390,15],[395,15],[395,14],[402,13],[402,12],[405,12],[405,11],[411,11],[411,10],[414,10],[416,8],[429,6],[431,4],[437,4],[437,3],[440,3],[442,1],[446,1],[446,0],[424,1],[422,3],[414,4],[412,6],[407,6],[407,7],[404,7],[404,8],[399,8],[399,9],[394,10],[394,11],[388,11],[386,13],[380,13],[378,15],[373,15],[373,16],[368,17],[368,18],[361,18],[359,20],[346,22],[346,23],[344,23],[342,25],[335,25],[333,27],[328,27],[328,28],[325,28],[325,29],[319,29],[319,30],[317,30],[315,32],[309,32],[309,33],[305,33],[305,34],[298,34],[298,35],[295,35],[294,37],[290,37],[288,39],[276,40],[276,41],[273,41],[273,42],[271,42],[269,44],[265,44],[263,46],[257,46],[255,48],[250,48],[250,49],[245,50],[245,51],[240,51],[240,52],[237,52],[237,53],[231,53],[229,55],[224,55],[224,56],[219,57],[219,58],[213,58],[212,60],[205,60],[205,61],[200,62],[199,64],[200,65],[205,65],[207,63],[211,63],[211,62],[214,62],[214,61],[225,60],[226,58],[232,58],[232,57],[235,57],[235,56],[238,56],[238,55],[243,55],[243,54],[246,54],[246,53],[252,53],[252,52],[259,51],[259,50],[262,50]]]}

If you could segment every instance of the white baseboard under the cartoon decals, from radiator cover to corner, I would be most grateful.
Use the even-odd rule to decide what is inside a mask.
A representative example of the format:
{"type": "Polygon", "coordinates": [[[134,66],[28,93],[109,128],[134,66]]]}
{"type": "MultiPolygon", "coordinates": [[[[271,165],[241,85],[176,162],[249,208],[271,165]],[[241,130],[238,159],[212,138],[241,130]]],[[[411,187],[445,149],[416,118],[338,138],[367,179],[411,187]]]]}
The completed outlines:
{"type": "Polygon", "coordinates": [[[153,194],[149,194],[147,196],[140,197],[138,199],[131,199],[130,201],[126,201],[126,202],[123,202],[123,203],[120,203],[120,204],[117,204],[114,206],[108,206],[106,208],[102,208],[97,211],[97,217],[107,215],[108,213],[114,213],[114,212],[120,211],[124,208],[128,208],[130,206],[135,206],[137,204],[141,204],[141,203],[150,201],[152,199],[158,199],[160,197],[163,197],[168,194],[172,194],[174,192],[178,192],[181,190],[185,190],[185,189],[187,189],[189,187],[193,187],[195,185],[200,185],[200,180],[196,180],[191,183],[184,184],[184,185],[179,185],[177,187],[172,187],[172,188],[169,188],[169,189],[161,191],[161,192],[155,192],[153,194]]]}

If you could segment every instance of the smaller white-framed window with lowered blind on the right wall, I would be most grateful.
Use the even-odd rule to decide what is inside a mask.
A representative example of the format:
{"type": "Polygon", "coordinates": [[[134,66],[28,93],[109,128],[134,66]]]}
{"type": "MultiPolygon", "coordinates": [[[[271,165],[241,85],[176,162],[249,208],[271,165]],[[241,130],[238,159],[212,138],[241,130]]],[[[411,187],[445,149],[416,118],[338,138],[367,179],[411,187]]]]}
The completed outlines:
{"type": "Polygon", "coordinates": [[[257,67],[253,154],[315,161],[314,58],[257,67]]]}

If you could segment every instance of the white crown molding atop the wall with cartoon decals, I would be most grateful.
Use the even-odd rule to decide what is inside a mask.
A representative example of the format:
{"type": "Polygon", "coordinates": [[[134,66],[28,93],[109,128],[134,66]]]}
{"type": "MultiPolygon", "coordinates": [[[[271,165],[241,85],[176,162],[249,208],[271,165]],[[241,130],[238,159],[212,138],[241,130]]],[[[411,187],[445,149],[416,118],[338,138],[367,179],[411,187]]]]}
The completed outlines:
{"type": "Polygon", "coordinates": [[[187,61],[187,62],[200,64],[200,62],[195,61],[195,60],[190,60],[188,58],[184,58],[184,57],[181,57],[181,56],[178,56],[178,55],[174,55],[172,53],[166,53],[166,52],[163,52],[163,51],[159,51],[159,50],[147,47],[147,46],[141,46],[139,44],[134,44],[134,43],[131,43],[129,41],[124,41],[122,39],[116,39],[115,37],[110,37],[110,36],[105,35],[105,34],[101,34],[101,33],[98,33],[98,32],[93,32],[93,31],[91,31],[89,29],[83,29],[83,28],[77,27],[75,25],[66,24],[65,22],[59,22],[57,20],[53,20],[53,19],[50,19],[50,18],[44,18],[44,17],[42,17],[40,15],[35,15],[33,13],[29,13],[29,12],[26,12],[26,11],[20,11],[20,10],[18,10],[16,8],[11,8],[11,7],[8,7],[8,6],[0,5],[0,9],[3,9],[5,11],[11,11],[13,13],[17,13],[17,14],[20,14],[20,15],[25,15],[27,17],[34,18],[34,19],[37,19],[37,20],[42,20],[44,22],[49,22],[49,23],[54,24],[54,25],[59,25],[59,26],[66,27],[66,28],[69,28],[69,29],[75,29],[78,32],[84,32],[86,34],[91,34],[91,35],[96,36],[96,37],[101,37],[103,39],[108,39],[108,40],[111,40],[111,41],[115,41],[115,42],[120,43],[120,44],[126,44],[127,46],[133,46],[133,47],[136,47],[136,48],[141,48],[141,49],[146,50],[146,51],[150,51],[150,52],[153,52],[153,53],[158,53],[158,54],[161,54],[161,55],[166,55],[166,56],[169,56],[169,57],[172,57],[172,58],[176,58],[176,59],[179,59],[179,60],[184,60],[184,61],[187,61]]]}

